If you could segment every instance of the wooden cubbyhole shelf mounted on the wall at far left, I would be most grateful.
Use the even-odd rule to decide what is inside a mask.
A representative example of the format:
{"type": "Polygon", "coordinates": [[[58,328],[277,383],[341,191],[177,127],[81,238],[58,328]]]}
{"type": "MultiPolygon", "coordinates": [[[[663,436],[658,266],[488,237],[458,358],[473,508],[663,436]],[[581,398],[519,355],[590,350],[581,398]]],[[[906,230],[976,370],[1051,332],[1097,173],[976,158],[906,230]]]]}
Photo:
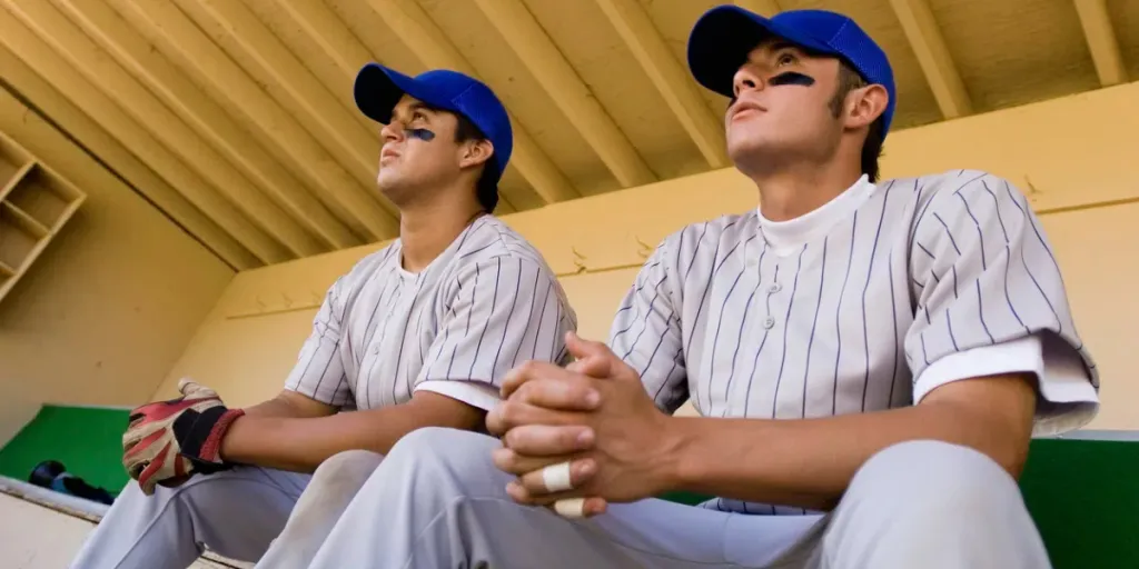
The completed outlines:
{"type": "Polygon", "coordinates": [[[87,193],[0,133],[0,302],[87,193]]]}

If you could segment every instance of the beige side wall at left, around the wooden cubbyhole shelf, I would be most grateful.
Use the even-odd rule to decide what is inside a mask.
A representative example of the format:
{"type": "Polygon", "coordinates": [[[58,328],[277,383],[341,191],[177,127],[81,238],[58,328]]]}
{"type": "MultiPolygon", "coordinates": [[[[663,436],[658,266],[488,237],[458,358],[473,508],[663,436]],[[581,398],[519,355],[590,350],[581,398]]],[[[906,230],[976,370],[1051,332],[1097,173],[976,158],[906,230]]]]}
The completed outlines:
{"type": "Polygon", "coordinates": [[[146,399],[233,271],[0,90],[0,131],[88,200],[0,302],[0,440],[40,403],[146,399]]]}

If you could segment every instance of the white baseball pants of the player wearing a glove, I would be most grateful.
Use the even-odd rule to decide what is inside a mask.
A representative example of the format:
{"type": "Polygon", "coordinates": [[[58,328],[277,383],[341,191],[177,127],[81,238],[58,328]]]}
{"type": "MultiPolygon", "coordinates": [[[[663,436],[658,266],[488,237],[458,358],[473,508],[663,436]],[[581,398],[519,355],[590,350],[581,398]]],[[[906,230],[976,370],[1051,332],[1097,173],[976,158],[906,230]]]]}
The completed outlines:
{"type": "Polygon", "coordinates": [[[131,481],[73,569],[186,569],[204,547],[259,567],[308,567],[382,456],[350,451],[310,475],[256,467],[196,476],[146,496],[131,481]]]}

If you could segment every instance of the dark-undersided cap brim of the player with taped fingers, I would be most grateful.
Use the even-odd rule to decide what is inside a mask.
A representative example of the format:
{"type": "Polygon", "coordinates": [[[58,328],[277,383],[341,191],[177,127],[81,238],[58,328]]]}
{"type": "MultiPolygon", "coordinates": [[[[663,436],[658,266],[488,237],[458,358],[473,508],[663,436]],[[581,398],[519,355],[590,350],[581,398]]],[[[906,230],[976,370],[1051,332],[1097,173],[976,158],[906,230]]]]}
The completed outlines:
{"type": "Polygon", "coordinates": [[[732,79],[747,55],[767,38],[780,38],[811,51],[830,48],[780,26],[738,6],[720,6],[705,13],[688,36],[688,68],[696,82],[724,97],[732,97],[732,79]]]}

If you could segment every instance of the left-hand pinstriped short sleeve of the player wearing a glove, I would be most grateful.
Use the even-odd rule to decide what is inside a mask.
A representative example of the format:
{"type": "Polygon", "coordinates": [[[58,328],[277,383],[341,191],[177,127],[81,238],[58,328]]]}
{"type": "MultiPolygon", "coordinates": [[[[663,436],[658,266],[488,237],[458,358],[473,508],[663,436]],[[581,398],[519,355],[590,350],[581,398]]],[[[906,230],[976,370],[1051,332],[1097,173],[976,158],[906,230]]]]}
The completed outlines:
{"type": "Polygon", "coordinates": [[[347,277],[342,277],[328,289],[313,318],[312,333],[301,347],[297,363],[285,381],[286,389],[334,406],[342,406],[351,398],[341,354],[347,281],[347,277]]]}

